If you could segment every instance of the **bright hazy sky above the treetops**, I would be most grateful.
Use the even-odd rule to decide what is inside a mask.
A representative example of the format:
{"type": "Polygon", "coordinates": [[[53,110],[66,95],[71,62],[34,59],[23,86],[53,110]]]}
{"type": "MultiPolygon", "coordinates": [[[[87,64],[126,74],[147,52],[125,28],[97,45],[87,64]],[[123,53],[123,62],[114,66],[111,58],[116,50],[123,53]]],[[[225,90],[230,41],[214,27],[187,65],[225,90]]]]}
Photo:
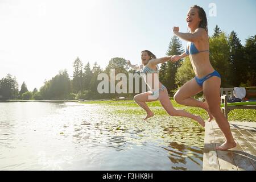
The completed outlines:
{"type": "Polygon", "coordinates": [[[192,5],[207,13],[209,35],[216,24],[242,44],[256,34],[255,0],[0,0],[0,79],[10,73],[32,91],[61,69],[72,76],[77,57],[105,69],[113,57],[139,64],[144,49],[166,56],[192,5]]]}

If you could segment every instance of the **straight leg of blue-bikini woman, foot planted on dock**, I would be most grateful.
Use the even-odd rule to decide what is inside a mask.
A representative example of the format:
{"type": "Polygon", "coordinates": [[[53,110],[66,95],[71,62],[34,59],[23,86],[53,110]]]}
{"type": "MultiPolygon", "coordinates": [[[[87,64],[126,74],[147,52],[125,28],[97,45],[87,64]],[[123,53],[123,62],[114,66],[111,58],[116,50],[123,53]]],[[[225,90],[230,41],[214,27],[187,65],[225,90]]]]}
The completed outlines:
{"type": "Polygon", "coordinates": [[[221,113],[220,85],[221,79],[219,77],[213,76],[204,81],[203,92],[205,100],[209,105],[210,113],[216,119],[216,122],[226,139],[226,142],[223,143],[220,147],[217,147],[217,150],[228,150],[229,148],[236,147],[236,142],[234,142],[232,133],[230,131],[228,119],[226,119],[224,114],[221,113]]]}

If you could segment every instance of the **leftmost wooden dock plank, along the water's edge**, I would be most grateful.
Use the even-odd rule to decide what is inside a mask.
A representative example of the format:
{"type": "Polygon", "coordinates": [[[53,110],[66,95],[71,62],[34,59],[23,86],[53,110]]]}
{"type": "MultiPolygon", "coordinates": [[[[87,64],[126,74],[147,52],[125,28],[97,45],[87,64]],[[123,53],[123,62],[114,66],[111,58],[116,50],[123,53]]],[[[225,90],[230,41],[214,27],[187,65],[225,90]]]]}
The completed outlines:
{"type": "Polygon", "coordinates": [[[203,171],[220,171],[212,123],[205,123],[203,171]]]}

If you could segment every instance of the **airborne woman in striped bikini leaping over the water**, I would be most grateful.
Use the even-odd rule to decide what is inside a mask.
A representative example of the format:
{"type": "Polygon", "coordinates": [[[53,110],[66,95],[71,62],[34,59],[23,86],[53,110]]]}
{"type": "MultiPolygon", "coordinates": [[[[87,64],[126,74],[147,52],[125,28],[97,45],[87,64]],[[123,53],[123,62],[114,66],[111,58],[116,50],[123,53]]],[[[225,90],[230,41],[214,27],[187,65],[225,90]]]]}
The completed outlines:
{"type": "MultiPolygon", "coordinates": [[[[160,103],[169,115],[194,119],[204,127],[204,120],[199,115],[193,115],[185,110],[175,109],[174,106],[172,106],[166,87],[158,80],[158,64],[170,61],[171,57],[172,56],[167,56],[156,59],[156,56],[150,51],[145,50],[141,52],[141,60],[143,65],[142,75],[146,84],[148,85],[148,88],[150,88],[150,91],[134,96],[134,101],[147,112],[147,116],[144,118],[144,120],[154,115],[154,113],[152,113],[147,106],[146,102],[156,101],[159,98],[160,103]]],[[[130,61],[127,61],[127,64],[133,69],[141,70],[140,67],[131,65],[130,61]]]]}

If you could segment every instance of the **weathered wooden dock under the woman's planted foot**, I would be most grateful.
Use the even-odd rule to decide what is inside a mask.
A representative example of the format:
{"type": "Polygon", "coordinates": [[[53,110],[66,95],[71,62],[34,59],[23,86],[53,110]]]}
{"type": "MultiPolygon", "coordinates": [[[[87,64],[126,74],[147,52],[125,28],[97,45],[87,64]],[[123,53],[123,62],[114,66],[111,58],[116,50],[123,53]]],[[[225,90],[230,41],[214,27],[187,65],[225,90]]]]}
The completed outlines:
{"type": "Polygon", "coordinates": [[[205,123],[203,171],[256,170],[256,122],[229,123],[237,143],[229,151],[216,150],[224,136],[215,121],[205,123]]]}

